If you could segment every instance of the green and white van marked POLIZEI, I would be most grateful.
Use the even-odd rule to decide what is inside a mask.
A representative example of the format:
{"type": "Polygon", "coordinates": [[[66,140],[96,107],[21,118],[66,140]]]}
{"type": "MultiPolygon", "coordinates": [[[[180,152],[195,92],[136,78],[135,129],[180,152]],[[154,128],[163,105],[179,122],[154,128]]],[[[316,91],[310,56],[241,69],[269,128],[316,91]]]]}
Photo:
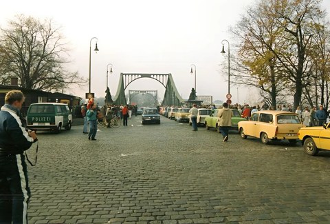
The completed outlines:
{"type": "Polygon", "coordinates": [[[30,130],[70,130],[72,114],[66,103],[32,103],[26,115],[30,130]]]}

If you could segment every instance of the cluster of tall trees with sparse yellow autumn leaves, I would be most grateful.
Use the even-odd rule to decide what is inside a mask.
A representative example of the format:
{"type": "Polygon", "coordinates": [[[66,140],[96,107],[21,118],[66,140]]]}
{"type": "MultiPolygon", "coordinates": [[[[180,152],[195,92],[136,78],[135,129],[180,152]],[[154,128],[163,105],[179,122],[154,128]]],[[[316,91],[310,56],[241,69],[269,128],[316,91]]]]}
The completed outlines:
{"type": "Polygon", "coordinates": [[[235,82],[254,85],[276,106],[283,95],[329,107],[329,24],[320,0],[261,0],[231,28],[235,82]],[[320,101],[318,98],[320,97],[320,101]]]}

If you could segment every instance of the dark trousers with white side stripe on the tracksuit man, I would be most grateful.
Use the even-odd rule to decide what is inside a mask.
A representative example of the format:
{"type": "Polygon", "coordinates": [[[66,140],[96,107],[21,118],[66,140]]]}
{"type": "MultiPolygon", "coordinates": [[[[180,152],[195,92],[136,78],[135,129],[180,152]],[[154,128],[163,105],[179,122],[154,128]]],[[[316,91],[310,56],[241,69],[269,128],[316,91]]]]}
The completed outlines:
{"type": "Polygon", "coordinates": [[[28,223],[29,197],[25,156],[0,156],[0,223],[28,223]]]}

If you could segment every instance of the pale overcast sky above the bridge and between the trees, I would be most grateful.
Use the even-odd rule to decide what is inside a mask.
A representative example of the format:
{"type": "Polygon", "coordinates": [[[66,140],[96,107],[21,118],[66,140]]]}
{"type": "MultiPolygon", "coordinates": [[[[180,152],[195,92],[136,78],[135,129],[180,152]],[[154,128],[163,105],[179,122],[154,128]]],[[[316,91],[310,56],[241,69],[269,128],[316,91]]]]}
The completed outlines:
{"type": "MultiPolygon", "coordinates": [[[[234,43],[228,29],[255,0],[108,0],[108,1],[44,1],[13,0],[1,2],[0,26],[16,14],[39,19],[52,19],[62,27],[69,42],[69,70],[89,77],[89,43],[98,38],[99,52],[91,54],[91,92],[105,96],[107,64],[113,64],[109,76],[111,95],[115,96],[120,73],[171,73],[177,90],[187,99],[194,87],[190,64],[197,67],[197,95],[212,95],[225,100],[228,92],[227,70],[221,65],[223,39],[234,43]]],[[[330,7],[330,1],[323,2],[330,7]]],[[[92,50],[95,41],[91,42],[92,50]]],[[[225,50],[228,45],[225,44],[225,50]]],[[[164,87],[151,79],[139,79],[127,90],[158,90],[164,87]]],[[[85,87],[65,90],[85,98],[85,87]]],[[[128,92],[128,91],[127,91],[128,92]]],[[[232,86],[233,103],[257,99],[257,91],[232,86]],[[238,93],[238,94],[237,94],[238,93]],[[239,96],[239,97],[238,97],[239,96]]]]}

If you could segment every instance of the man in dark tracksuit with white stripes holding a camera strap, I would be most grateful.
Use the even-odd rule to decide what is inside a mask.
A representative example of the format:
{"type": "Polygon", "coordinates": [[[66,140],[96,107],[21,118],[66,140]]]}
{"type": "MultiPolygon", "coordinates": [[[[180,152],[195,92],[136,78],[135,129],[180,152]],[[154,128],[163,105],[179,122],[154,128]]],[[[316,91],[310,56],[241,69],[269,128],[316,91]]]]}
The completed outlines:
{"type": "Polygon", "coordinates": [[[0,111],[0,223],[28,223],[28,171],[23,152],[37,141],[19,119],[24,95],[12,90],[0,111]]]}

